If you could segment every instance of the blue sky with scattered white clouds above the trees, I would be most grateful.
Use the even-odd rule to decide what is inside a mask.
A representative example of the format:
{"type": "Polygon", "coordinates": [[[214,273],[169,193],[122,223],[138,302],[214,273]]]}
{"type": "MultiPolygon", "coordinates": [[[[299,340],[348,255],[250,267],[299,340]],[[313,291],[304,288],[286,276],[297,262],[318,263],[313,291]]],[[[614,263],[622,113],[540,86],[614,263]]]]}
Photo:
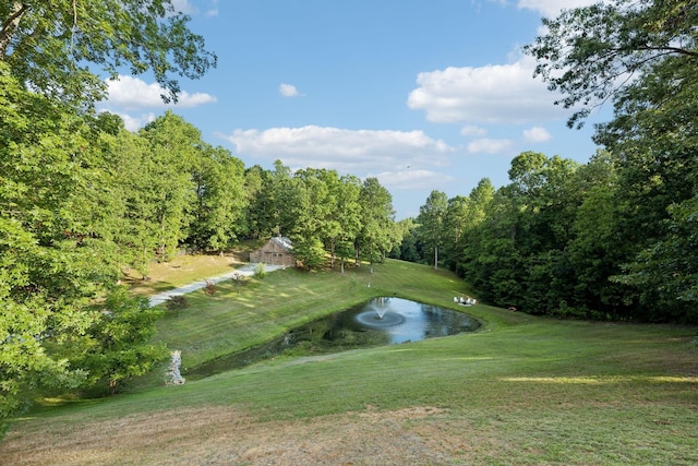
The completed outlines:
{"type": "MultiPolygon", "coordinates": [[[[520,49],[542,15],[589,0],[173,0],[218,56],[181,81],[166,106],[147,75],[109,84],[103,109],[131,130],[170,108],[245,167],[336,169],[376,177],[398,219],[432,190],[468,195],[482,178],[508,182],[524,151],[586,163],[593,116],[569,111],[533,80],[520,49]]],[[[604,118],[605,116],[605,118],[604,118]]]]}

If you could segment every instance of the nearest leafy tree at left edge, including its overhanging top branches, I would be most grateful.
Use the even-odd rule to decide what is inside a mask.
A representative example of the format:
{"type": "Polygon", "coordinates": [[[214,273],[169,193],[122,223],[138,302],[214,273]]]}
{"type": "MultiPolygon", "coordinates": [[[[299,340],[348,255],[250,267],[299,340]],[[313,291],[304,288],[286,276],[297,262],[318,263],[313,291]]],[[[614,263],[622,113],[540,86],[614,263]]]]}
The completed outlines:
{"type": "Polygon", "coordinates": [[[177,76],[216,63],[188,21],[169,0],[0,3],[0,422],[86,380],[62,355],[100,322],[128,196],[100,134],[118,120],[83,110],[124,71],[151,72],[176,101],[177,76]]]}

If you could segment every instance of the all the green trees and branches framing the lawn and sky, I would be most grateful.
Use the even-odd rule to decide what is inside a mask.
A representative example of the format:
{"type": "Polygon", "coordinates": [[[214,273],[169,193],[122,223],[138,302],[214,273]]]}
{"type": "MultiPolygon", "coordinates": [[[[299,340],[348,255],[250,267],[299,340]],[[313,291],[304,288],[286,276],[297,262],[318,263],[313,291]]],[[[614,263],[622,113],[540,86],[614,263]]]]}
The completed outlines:
{"type": "Polygon", "coordinates": [[[85,63],[149,70],[172,101],[177,75],[216,65],[169,1],[5,2],[0,421],[35,395],[151,370],[160,311],[119,285],[122,272],[245,238],[289,236],[309,270],[386,255],[447,267],[482,300],[529,313],[698,322],[697,5],[617,0],[545,20],[526,51],[574,110],[569,126],[614,106],[599,152],[583,165],[522,153],[508,184],[434,191],[395,222],[375,178],[244,167],[172,112],[135,133],[96,112],[106,89],[85,63]]]}

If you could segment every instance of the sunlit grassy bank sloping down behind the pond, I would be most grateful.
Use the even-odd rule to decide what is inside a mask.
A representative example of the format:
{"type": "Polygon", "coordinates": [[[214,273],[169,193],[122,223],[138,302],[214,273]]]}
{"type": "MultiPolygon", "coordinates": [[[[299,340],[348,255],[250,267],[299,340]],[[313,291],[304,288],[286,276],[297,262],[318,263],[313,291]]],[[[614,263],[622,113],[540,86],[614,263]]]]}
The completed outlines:
{"type": "Polygon", "coordinates": [[[374,296],[400,296],[453,308],[453,297],[467,294],[465,284],[445,272],[398,261],[374,268],[374,274],[368,266],[345,274],[287,268],[262,280],[225,282],[213,297],[192,294],[190,308],[168,312],[156,339],[180,349],[183,365],[194,367],[374,296]]]}

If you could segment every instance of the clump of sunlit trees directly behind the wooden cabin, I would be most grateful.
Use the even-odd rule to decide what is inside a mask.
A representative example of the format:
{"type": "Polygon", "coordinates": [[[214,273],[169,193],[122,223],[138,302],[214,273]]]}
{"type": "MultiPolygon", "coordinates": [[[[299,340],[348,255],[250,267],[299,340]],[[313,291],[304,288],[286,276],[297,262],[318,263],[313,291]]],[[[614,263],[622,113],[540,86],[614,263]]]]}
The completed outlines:
{"type": "Polygon", "coordinates": [[[342,271],[347,259],[373,263],[401,241],[393,196],[376,178],[361,181],[316,168],[291,172],[277,160],[274,170],[245,170],[244,191],[242,235],[289,236],[306,268],[324,265],[327,255],[329,265],[338,260],[342,271]]]}

